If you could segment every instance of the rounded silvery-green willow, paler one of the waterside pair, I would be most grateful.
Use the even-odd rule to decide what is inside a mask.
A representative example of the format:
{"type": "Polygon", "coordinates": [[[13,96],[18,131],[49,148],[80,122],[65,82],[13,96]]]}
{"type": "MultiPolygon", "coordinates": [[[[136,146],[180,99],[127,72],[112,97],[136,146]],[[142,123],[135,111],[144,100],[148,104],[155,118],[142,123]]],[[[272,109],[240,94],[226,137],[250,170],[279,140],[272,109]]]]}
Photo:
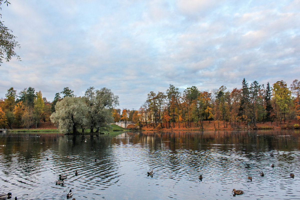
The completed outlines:
{"type": "Polygon", "coordinates": [[[79,97],[65,97],[55,105],[55,112],[50,119],[58,125],[63,133],[77,133],[77,128],[87,124],[86,113],[88,108],[85,102],[79,97]]]}

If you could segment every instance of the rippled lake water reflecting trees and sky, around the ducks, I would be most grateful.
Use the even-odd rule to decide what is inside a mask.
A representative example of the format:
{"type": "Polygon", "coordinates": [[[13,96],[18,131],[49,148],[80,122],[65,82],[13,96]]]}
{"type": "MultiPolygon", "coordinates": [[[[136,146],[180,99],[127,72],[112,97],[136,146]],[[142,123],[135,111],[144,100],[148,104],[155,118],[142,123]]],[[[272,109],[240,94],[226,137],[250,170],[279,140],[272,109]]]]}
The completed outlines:
{"type": "Polygon", "coordinates": [[[300,199],[299,186],[297,131],[0,135],[0,193],[18,199],[300,199]]]}

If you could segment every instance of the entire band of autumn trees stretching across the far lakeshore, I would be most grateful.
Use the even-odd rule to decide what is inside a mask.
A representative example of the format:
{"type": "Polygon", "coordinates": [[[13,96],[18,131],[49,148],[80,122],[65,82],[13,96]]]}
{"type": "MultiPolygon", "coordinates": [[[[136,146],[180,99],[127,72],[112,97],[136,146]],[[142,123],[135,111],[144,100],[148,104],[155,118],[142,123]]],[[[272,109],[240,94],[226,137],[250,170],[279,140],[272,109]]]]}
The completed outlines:
{"type": "Polygon", "coordinates": [[[165,92],[151,91],[138,110],[117,109],[119,97],[110,89],[90,87],[83,97],[76,97],[68,87],[49,102],[41,91],[24,88],[18,94],[13,88],[0,99],[0,128],[33,128],[40,123],[54,123],[64,133],[99,132],[113,121],[134,121],[137,126],[155,129],[192,127],[203,129],[203,121],[213,121],[216,129],[229,125],[239,128],[258,122],[300,122],[300,81],[290,87],[283,80],[266,86],[246,79],[241,88],[225,86],[199,91],[196,86],[179,91],[170,85],[165,92]],[[121,112],[122,111],[122,112],[121,112]]]}

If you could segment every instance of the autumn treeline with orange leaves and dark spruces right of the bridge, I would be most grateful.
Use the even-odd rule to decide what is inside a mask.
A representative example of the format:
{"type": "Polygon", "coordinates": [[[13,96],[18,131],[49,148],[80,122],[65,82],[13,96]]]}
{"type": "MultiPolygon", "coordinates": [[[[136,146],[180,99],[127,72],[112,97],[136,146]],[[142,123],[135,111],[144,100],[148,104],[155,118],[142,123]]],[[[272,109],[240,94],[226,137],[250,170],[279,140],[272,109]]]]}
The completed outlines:
{"type": "MultiPolygon", "coordinates": [[[[250,85],[242,80],[241,88],[227,90],[225,86],[212,91],[199,91],[196,86],[182,93],[174,85],[166,92],[151,91],[134,118],[140,127],[170,128],[178,125],[203,128],[203,121],[214,121],[215,128],[229,124],[239,127],[257,122],[300,120],[300,82],[290,87],[277,81],[266,87],[257,81],[250,85]],[[166,125],[166,127],[165,127],[166,125]]],[[[123,115],[122,115],[123,116],[123,115]]]]}

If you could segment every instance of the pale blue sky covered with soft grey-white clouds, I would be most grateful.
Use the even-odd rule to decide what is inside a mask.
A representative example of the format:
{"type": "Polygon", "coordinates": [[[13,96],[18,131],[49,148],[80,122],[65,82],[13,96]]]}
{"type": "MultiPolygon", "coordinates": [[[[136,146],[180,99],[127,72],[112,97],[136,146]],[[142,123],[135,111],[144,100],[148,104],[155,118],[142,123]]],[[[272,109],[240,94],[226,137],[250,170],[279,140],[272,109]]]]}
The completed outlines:
{"type": "Polygon", "coordinates": [[[0,67],[0,98],[34,87],[52,101],[110,88],[119,108],[138,109],[150,91],[288,86],[300,80],[300,1],[10,0],[2,21],[22,61],[0,67]]]}

